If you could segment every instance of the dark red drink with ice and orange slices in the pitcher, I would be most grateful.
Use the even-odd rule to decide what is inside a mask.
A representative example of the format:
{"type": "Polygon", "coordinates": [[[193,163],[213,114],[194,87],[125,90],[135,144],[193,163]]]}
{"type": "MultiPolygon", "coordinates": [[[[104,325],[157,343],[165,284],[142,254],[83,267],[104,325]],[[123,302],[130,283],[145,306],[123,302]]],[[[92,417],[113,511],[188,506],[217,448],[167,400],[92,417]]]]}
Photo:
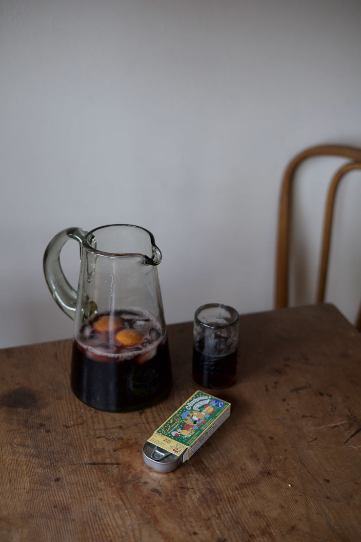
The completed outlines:
{"type": "Polygon", "coordinates": [[[142,309],[96,314],[74,338],[71,388],[89,406],[139,410],[165,397],[171,379],[166,333],[142,309]]]}

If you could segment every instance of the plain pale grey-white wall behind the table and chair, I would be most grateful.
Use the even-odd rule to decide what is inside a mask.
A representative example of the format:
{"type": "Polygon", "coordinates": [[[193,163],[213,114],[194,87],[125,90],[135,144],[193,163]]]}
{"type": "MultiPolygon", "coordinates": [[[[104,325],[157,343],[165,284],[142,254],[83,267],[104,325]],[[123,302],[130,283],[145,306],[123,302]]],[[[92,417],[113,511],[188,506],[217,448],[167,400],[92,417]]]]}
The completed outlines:
{"type": "MultiPolygon", "coordinates": [[[[212,300],[272,308],[286,163],[314,144],[361,146],[360,16],[358,0],[0,0],[0,346],[71,336],[42,271],[71,226],[150,229],[169,323],[212,300]]],[[[351,261],[351,299],[337,289],[350,318],[359,181],[338,205],[353,219],[336,270],[351,261]]],[[[313,224],[321,188],[302,184],[313,224]]]]}

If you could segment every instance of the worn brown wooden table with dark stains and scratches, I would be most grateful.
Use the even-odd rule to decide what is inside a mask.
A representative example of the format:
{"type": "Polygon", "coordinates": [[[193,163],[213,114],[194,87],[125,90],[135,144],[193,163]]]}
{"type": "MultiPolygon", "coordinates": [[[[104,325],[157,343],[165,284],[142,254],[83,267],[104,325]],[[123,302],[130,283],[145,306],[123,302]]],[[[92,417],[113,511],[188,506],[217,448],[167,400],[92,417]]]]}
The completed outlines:
{"type": "Polygon", "coordinates": [[[231,417],[172,473],[142,446],[196,389],[168,327],[171,395],[110,414],[70,390],[71,341],[0,352],[0,541],[361,540],[361,335],[332,305],[240,318],[231,417]]]}

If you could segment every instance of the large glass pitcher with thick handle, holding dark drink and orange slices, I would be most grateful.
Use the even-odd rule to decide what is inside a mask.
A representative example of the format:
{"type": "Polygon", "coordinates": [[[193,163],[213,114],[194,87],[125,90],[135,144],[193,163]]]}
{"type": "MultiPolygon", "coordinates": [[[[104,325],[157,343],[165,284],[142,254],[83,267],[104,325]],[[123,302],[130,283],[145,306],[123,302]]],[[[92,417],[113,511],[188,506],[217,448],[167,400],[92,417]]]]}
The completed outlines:
{"type": "Polygon", "coordinates": [[[115,224],[58,233],[44,254],[50,292],[75,321],[71,388],[89,406],[142,409],[170,390],[171,371],[157,274],[162,254],[146,229],[115,224]],[[65,242],[81,247],[78,291],[60,264],[65,242]]]}

